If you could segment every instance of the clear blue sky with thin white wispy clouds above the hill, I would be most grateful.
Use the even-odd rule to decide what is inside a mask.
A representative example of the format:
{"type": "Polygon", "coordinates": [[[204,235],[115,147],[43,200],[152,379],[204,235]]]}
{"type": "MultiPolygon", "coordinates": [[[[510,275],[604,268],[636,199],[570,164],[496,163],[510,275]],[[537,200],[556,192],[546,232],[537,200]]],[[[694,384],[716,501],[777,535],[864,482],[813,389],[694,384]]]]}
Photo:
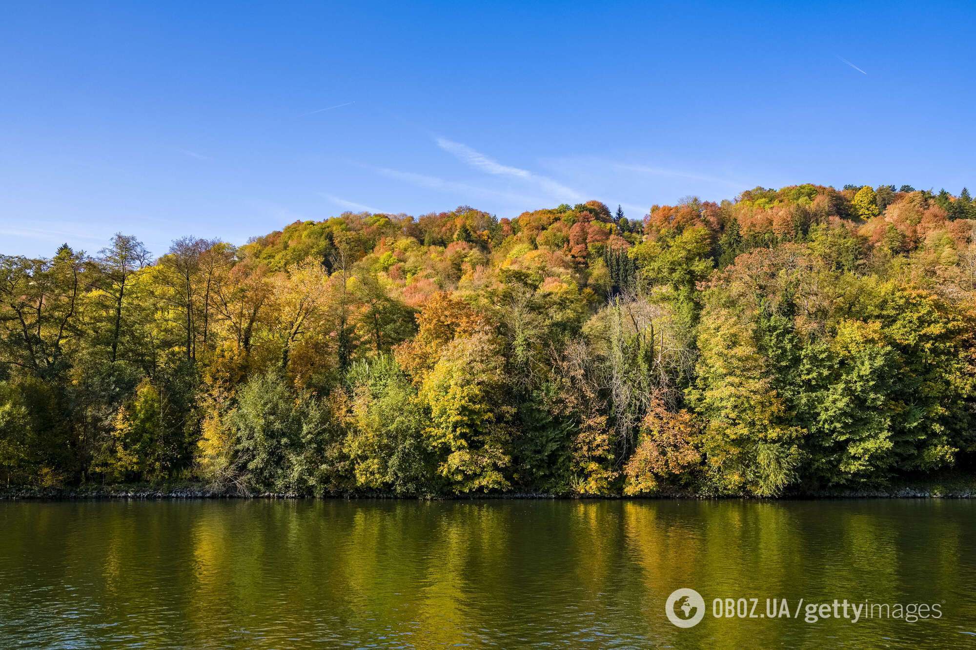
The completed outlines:
{"type": "Polygon", "coordinates": [[[9,2],[0,253],[976,186],[972,3],[9,2]]]}

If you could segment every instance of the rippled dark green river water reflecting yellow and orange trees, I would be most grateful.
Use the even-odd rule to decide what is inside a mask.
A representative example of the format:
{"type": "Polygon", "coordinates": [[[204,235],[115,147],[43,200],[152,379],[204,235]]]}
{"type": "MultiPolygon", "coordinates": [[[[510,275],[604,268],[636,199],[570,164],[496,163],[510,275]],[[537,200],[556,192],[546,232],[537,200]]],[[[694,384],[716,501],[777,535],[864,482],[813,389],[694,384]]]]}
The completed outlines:
{"type": "Polygon", "coordinates": [[[976,502],[0,502],[0,647],[973,647],[976,502]],[[679,630],[673,589],[708,615],[679,630]],[[729,620],[716,597],[939,603],[729,620]]]}

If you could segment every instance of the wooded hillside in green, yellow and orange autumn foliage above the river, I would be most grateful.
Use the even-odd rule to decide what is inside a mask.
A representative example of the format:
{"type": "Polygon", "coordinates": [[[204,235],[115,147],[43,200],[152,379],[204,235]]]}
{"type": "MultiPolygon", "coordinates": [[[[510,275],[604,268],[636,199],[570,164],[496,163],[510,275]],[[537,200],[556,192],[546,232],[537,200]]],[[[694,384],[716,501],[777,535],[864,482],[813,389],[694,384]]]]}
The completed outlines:
{"type": "Polygon", "coordinates": [[[0,256],[0,479],[776,496],[966,465],[974,224],[964,189],[804,184],[0,256]]]}

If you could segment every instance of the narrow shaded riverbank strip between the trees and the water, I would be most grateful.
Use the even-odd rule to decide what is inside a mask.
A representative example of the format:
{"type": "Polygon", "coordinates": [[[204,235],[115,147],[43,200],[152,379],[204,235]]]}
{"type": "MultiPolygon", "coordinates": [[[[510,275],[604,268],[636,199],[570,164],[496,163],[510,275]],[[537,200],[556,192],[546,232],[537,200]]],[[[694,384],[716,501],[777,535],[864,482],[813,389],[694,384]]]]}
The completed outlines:
{"type": "MultiPolygon", "coordinates": [[[[123,483],[117,485],[82,485],[75,487],[10,486],[0,488],[0,499],[313,499],[310,495],[277,492],[245,494],[234,488],[215,488],[196,481],[157,483],[123,483]]],[[[578,497],[545,492],[507,492],[467,495],[427,495],[403,497],[391,493],[349,492],[326,495],[326,499],[407,499],[407,500],[483,500],[483,499],[629,499],[622,496],[578,497]]],[[[666,492],[640,499],[710,499],[711,496],[689,492],[666,492]]],[[[726,499],[751,498],[727,495],[726,499]]],[[[973,499],[976,498],[976,474],[952,472],[938,476],[904,478],[887,486],[837,490],[795,490],[778,497],[790,499],[973,499]]],[[[752,497],[751,499],[754,499],[752,497]]]]}

